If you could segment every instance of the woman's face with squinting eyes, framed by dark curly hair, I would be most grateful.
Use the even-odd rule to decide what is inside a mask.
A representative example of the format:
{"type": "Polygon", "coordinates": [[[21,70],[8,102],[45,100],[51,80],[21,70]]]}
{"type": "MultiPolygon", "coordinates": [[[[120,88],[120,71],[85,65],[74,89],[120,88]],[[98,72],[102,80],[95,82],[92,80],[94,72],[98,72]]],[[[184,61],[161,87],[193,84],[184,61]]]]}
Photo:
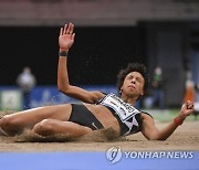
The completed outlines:
{"type": "Polygon", "coordinates": [[[127,96],[139,97],[144,95],[144,85],[145,79],[143,75],[138,72],[130,72],[126,75],[121,89],[127,96]]]}

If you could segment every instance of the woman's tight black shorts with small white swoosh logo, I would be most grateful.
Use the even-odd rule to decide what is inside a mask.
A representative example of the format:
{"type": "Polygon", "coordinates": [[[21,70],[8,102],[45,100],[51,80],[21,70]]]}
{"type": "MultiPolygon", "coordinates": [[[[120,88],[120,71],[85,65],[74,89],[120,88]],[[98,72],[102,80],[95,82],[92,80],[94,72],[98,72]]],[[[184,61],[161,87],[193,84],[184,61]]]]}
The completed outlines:
{"type": "Polygon", "coordinates": [[[98,119],[82,104],[71,104],[72,111],[69,121],[90,127],[92,130],[103,129],[104,126],[98,119]]]}

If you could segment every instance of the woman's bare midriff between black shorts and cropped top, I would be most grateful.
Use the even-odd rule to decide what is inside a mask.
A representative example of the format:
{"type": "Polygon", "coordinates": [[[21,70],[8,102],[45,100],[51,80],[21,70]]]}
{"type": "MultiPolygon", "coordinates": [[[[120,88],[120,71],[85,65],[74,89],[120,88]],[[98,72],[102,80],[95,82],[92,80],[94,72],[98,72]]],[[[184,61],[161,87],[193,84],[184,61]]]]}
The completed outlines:
{"type": "Polygon", "coordinates": [[[119,132],[119,124],[113,114],[103,105],[84,104],[85,107],[102,123],[105,128],[112,127],[119,132]]]}

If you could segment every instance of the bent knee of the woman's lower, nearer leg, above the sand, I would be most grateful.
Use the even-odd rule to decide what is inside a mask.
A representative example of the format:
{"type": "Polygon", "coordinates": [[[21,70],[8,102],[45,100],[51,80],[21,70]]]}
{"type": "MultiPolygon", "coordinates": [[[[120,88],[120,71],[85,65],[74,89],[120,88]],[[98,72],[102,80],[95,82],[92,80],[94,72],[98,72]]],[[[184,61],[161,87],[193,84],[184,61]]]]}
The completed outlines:
{"type": "Polygon", "coordinates": [[[53,134],[53,120],[52,119],[43,119],[42,121],[38,123],[33,127],[33,132],[48,136],[53,134]]]}

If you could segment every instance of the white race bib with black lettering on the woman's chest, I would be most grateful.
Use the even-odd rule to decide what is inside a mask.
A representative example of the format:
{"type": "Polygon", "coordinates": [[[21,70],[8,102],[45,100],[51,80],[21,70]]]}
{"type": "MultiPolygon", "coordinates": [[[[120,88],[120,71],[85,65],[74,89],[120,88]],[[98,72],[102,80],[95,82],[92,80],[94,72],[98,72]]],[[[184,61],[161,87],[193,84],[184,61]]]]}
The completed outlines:
{"type": "Polygon", "coordinates": [[[101,104],[113,108],[123,123],[134,115],[140,114],[133,105],[124,102],[115,94],[108,94],[101,104]]]}

